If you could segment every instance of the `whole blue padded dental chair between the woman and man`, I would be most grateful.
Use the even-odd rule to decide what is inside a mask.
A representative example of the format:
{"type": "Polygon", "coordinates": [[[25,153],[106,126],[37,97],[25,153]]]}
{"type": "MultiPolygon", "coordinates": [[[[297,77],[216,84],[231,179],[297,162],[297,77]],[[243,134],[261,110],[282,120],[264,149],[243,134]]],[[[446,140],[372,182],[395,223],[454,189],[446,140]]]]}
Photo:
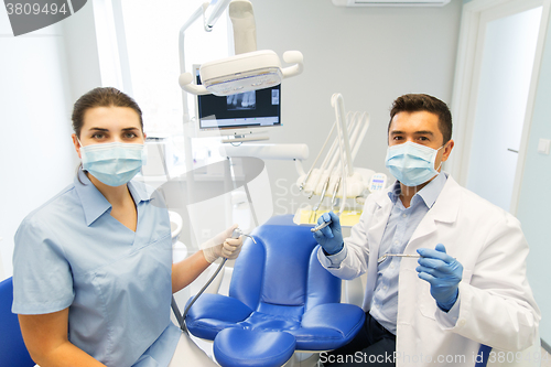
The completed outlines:
{"type": "Polygon", "coordinates": [[[272,217],[251,234],[236,260],[229,296],[203,294],[185,319],[190,332],[214,341],[226,366],[282,366],[295,350],[323,352],[354,338],[364,311],[339,303],[341,279],[317,260],[310,227],[272,217]]]}

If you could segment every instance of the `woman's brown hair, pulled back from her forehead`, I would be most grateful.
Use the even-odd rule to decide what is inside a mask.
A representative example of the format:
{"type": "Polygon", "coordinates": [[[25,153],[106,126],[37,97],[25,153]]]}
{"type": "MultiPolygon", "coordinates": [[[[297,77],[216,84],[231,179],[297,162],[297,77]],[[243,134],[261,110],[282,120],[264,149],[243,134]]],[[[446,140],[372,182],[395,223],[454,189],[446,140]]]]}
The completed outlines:
{"type": "Polygon", "coordinates": [[[84,125],[84,114],[95,107],[129,107],[140,117],[140,126],[143,131],[142,114],[136,100],[117,88],[99,87],[83,95],[73,107],[73,130],[78,138],[80,138],[80,130],[84,125]]]}

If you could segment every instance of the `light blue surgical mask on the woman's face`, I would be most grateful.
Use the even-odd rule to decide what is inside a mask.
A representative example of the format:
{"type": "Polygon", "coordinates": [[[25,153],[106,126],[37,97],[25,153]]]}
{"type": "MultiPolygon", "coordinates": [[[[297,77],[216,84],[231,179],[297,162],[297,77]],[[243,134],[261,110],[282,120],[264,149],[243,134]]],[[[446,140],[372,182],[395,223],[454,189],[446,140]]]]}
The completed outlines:
{"type": "MultiPolygon", "coordinates": [[[[78,141],[80,143],[80,141],[78,141]]],[[[132,180],[145,164],[143,144],[99,143],[80,144],[83,170],[108,186],[120,186],[132,180]]]]}

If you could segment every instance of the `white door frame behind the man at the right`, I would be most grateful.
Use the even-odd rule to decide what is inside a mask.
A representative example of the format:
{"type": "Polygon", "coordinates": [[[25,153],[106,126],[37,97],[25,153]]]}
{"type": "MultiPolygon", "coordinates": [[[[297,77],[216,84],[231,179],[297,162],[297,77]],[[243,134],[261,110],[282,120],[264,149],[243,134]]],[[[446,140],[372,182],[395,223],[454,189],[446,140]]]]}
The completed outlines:
{"type": "Polygon", "coordinates": [[[542,7],[541,23],[536,46],[532,77],[528,93],[522,136],[512,187],[510,213],[516,215],[522,184],[522,173],[530,136],[536,93],[541,60],[550,20],[551,0],[473,0],[463,6],[457,60],[451,110],[454,117],[455,152],[450,156],[446,170],[463,186],[466,186],[471,158],[471,141],[474,130],[478,85],[480,80],[485,28],[483,22],[542,7]],[[494,13],[490,13],[494,12],[494,13]],[[484,14],[483,14],[484,13],[484,14]]]}

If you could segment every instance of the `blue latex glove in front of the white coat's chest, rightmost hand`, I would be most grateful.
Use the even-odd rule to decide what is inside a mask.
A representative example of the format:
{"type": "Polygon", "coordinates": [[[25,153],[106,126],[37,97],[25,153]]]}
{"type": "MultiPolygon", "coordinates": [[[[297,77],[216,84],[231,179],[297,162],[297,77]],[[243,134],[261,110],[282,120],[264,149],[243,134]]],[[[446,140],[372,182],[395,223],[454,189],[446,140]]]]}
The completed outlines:
{"type": "Polygon", "coordinates": [[[450,311],[460,294],[460,282],[463,277],[463,266],[446,253],[444,245],[436,245],[436,249],[420,248],[417,250],[421,258],[418,260],[419,278],[431,284],[431,295],[436,300],[440,310],[450,311]]]}

